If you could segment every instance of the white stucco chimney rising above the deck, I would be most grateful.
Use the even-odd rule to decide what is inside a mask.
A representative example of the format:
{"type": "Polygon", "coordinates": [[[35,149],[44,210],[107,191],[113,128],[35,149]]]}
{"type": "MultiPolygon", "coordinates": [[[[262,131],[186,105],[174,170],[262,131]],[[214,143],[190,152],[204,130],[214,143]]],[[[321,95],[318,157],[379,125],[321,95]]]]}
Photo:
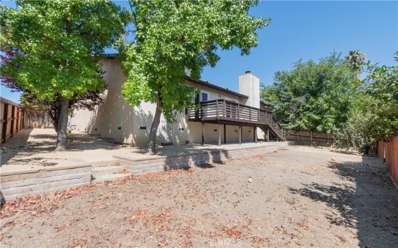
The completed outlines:
{"type": "Polygon", "coordinates": [[[249,97],[245,105],[260,108],[260,78],[250,70],[239,76],[239,93],[249,97]]]}

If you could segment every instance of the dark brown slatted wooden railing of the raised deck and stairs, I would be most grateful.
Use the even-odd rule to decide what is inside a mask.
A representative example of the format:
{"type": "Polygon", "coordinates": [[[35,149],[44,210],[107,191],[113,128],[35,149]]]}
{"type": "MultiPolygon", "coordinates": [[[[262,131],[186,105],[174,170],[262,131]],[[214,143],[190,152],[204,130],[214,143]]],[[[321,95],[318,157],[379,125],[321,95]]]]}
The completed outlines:
{"type": "Polygon", "coordinates": [[[268,125],[279,137],[286,137],[285,129],[275,120],[271,111],[242,105],[225,99],[199,103],[198,109],[187,109],[188,121],[230,121],[242,124],[268,125]]]}

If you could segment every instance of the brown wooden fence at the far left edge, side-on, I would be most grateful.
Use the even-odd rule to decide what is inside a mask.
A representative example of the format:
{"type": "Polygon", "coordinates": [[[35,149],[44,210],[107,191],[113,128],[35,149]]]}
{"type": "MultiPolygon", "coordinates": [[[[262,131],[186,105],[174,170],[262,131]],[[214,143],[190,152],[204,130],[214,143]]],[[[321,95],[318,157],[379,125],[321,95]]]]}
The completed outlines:
{"type": "Polygon", "coordinates": [[[20,106],[5,98],[0,98],[0,140],[4,143],[7,139],[12,137],[14,133],[22,129],[23,126],[23,111],[20,106]]]}

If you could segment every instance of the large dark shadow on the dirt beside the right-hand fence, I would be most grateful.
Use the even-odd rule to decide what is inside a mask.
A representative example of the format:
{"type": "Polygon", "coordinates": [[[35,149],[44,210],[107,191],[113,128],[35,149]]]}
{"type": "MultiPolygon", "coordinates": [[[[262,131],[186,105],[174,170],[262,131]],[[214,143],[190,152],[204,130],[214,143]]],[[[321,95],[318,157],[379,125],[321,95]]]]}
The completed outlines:
{"type": "Polygon", "coordinates": [[[302,184],[290,191],[333,208],[338,214],[325,213],[325,217],[332,225],[355,228],[360,247],[397,247],[398,190],[381,160],[330,161],[328,167],[352,183],[302,184]]]}

